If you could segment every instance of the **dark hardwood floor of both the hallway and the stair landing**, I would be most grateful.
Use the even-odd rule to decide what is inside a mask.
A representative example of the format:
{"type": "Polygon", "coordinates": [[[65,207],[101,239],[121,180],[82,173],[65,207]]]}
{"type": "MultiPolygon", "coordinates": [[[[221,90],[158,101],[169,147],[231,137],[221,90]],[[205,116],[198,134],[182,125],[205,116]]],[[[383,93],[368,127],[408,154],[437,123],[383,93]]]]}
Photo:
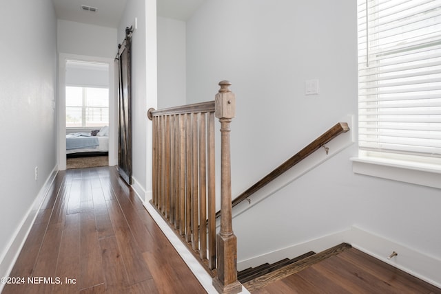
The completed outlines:
{"type": "MultiPolygon", "coordinates": [[[[59,172],[2,293],[206,293],[116,168],[59,172]]],[[[347,249],[252,291],[433,293],[441,289],[347,249]]]]}

